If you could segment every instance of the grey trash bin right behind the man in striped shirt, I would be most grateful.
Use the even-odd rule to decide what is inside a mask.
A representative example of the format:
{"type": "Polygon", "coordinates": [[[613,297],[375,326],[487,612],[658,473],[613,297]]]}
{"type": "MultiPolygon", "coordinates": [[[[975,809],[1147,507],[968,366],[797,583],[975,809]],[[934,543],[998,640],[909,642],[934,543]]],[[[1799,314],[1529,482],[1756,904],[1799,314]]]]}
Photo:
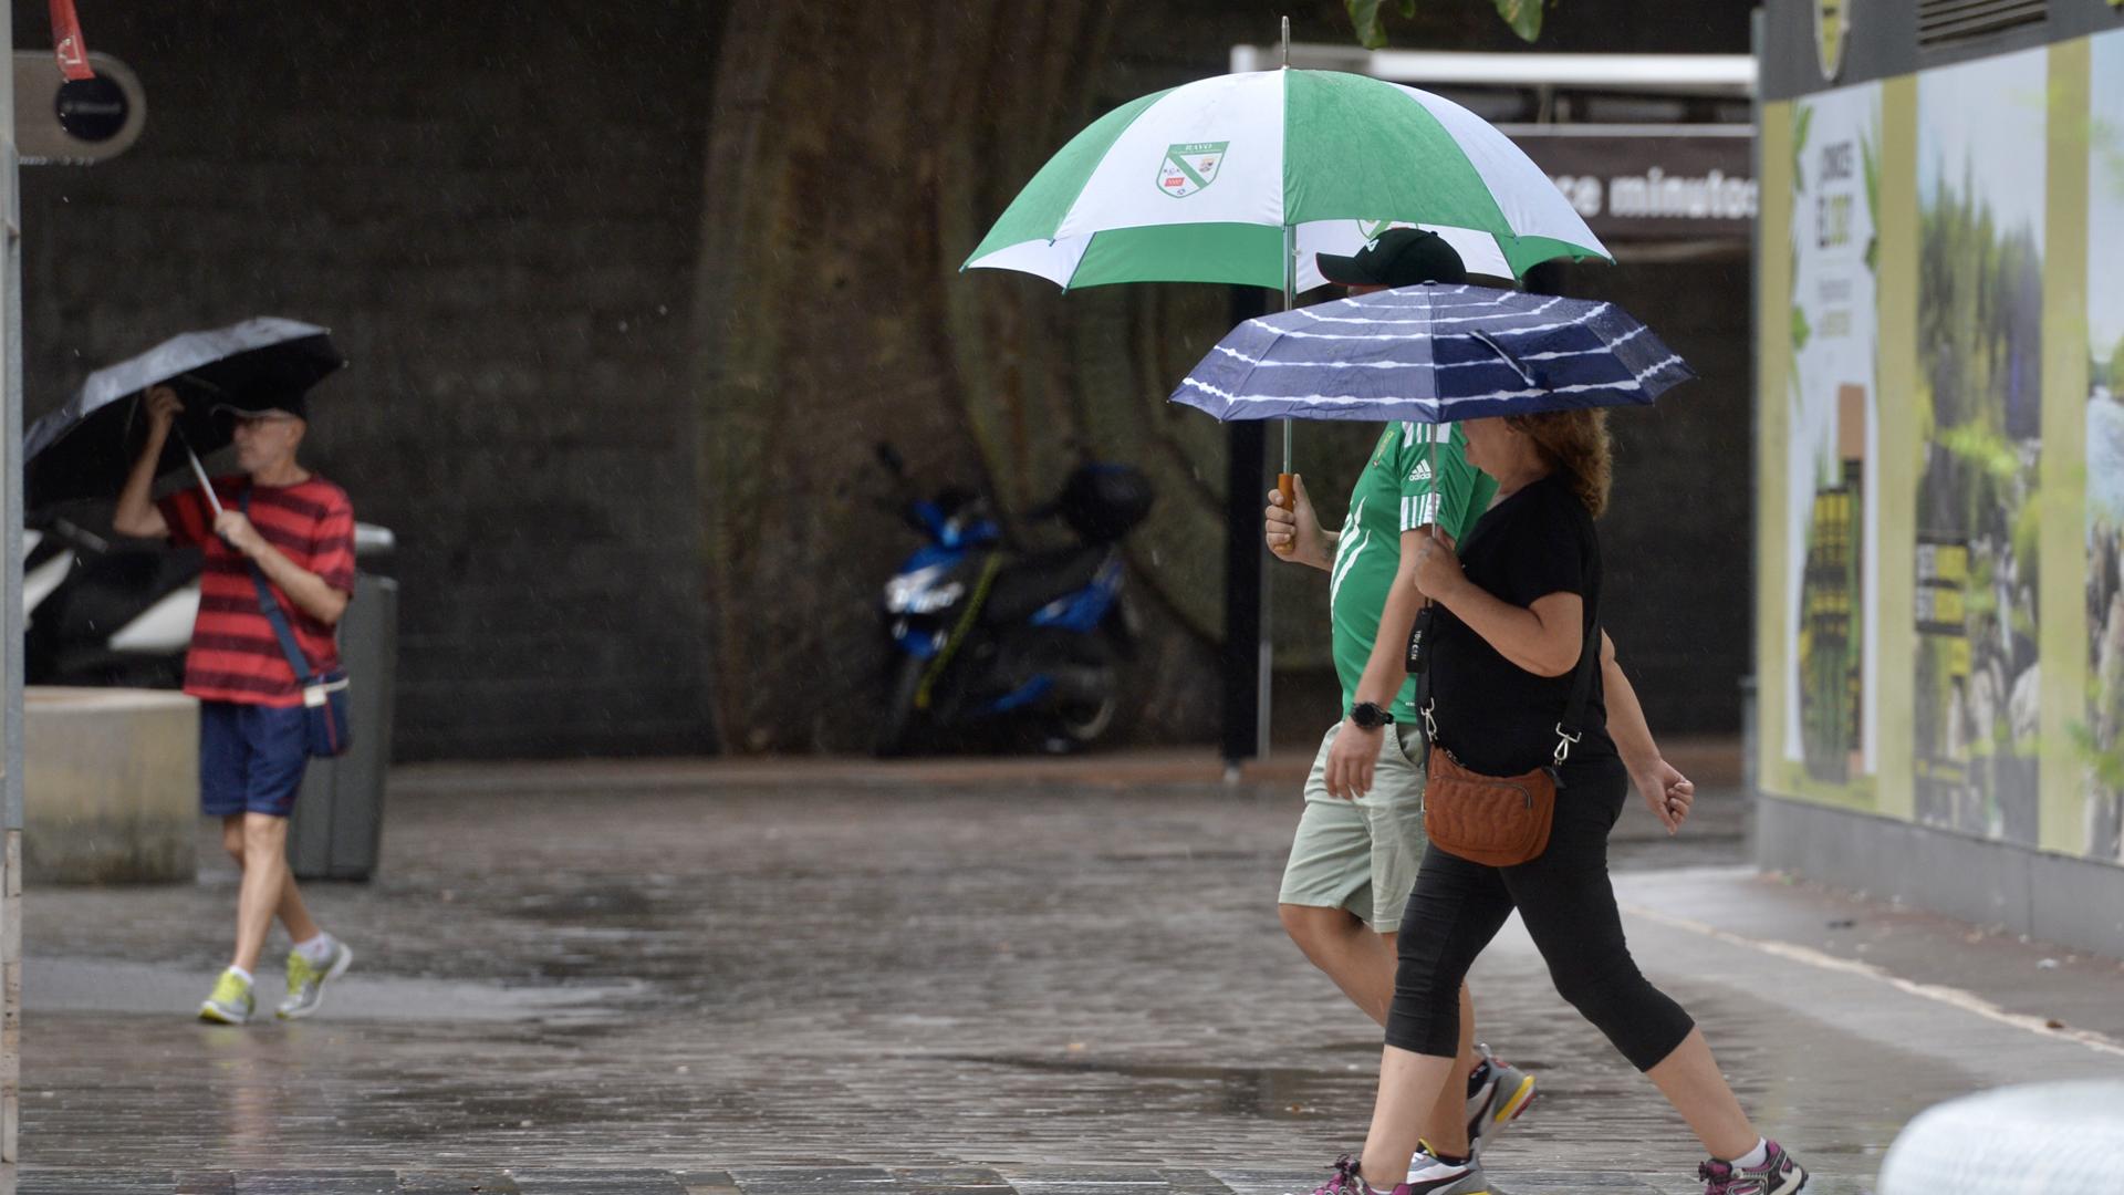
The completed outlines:
{"type": "Polygon", "coordinates": [[[353,744],[312,759],[287,827],[287,859],[299,880],[365,880],[376,872],[391,765],[391,691],[397,683],[397,580],[359,574],[340,619],[353,744]]]}

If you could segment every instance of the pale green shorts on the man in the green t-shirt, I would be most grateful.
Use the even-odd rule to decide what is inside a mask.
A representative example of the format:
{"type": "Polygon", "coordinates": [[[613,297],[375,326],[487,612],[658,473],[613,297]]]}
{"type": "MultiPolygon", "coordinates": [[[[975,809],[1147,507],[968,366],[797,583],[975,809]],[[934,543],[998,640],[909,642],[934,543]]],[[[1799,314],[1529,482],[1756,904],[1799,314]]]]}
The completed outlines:
{"type": "Polygon", "coordinates": [[[1378,933],[1402,927],[1402,906],[1423,863],[1423,731],[1391,725],[1378,742],[1372,791],[1344,802],[1328,795],[1328,748],[1342,723],[1328,729],[1306,778],[1306,812],[1298,817],[1291,861],[1283,868],[1281,904],[1347,908],[1378,933]]]}

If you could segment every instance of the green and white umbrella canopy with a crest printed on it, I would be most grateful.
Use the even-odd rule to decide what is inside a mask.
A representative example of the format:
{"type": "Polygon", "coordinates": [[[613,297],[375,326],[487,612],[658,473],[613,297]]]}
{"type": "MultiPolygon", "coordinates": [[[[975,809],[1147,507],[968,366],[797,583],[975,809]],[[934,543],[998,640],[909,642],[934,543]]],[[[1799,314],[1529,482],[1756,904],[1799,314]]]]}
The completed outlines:
{"type": "Polygon", "coordinates": [[[1221,74],[1124,104],[1056,153],[966,268],[1062,287],[1238,283],[1304,291],[1317,253],[1436,230],[1472,272],[1608,257],[1508,136],[1468,108],[1364,74],[1221,74]]]}

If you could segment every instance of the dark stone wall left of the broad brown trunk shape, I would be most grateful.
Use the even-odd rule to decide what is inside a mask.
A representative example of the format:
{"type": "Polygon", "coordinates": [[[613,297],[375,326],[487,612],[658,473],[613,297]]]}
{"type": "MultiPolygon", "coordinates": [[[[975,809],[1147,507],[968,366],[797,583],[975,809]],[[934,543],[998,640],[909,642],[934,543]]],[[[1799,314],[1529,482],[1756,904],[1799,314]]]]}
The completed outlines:
{"type": "MultiPolygon", "coordinates": [[[[51,45],[17,4],[15,45],[51,45]]],[[[308,461],[397,532],[406,757],[707,751],[686,313],[705,6],[83,6],[149,123],[23,170],[28,413],[246,315],[353,361],[308,461]]]]}

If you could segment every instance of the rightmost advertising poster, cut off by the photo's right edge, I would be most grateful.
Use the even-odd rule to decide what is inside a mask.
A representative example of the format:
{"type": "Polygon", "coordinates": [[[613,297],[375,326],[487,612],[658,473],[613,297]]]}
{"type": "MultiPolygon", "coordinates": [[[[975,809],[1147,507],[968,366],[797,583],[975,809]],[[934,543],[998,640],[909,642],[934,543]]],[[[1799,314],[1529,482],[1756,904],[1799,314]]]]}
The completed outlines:
{"type": "Polygon", "coordinates": [[[2124,859],[2124,32],[2092,40],[2088,123],[2088,855],[2124,859]]]}

